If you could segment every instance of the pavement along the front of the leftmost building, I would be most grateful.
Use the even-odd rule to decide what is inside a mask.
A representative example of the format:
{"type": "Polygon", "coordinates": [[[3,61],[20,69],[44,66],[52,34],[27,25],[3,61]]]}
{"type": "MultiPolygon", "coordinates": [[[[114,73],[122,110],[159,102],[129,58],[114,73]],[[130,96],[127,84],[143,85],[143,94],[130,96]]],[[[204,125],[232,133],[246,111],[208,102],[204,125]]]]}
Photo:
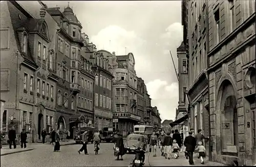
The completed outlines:
{"type": "MultiPolygon", "coordinates": [[[[68,146],[68,145],[74,145],[75,141],[70,141],[70,142],[60,142],[60,146],[68,146]]],[[[42,148],[42,147],[53,147],[53,145],[50,145],[49,143],[28,143],[26,149],[20,148],[20,145],[17,145],[16,149],[9,149],[9,145],[4,145],[1,149],[1,156],[4,155],[9,155],[9,154],[15,154],[15,153],[20,153],[20,152],[26,152],[26,151],[31,151],[34,149],[42,148]]]]}

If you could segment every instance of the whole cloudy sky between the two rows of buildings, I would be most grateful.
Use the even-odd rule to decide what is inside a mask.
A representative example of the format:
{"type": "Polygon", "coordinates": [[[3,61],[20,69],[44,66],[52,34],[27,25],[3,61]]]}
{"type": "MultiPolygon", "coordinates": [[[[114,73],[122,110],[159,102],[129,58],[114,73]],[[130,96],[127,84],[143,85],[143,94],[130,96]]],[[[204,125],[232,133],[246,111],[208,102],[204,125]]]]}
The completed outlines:
{"type": "MultiPolygon", "coordinates": [[[[42,1],[49,8],[67,1],[42,1]]],[[[181,1],[71,1],[70,7],[97,49],[132,52],[135,70],[147,86],[162,121],[175,120],[178,107],[177,47],[183,38],[181,1]],[[126,48],[126,49],[125,49],[126,48]]]]}

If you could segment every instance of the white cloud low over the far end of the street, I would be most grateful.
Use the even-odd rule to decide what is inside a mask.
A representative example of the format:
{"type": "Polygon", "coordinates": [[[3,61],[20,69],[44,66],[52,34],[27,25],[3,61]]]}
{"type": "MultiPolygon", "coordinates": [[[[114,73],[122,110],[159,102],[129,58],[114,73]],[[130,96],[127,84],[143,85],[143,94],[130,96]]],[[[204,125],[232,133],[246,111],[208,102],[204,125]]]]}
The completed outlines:
{"type": "Polygon", "coordinates": [[[167,81],[155,79],[146,84],[148,94],[152,98],[152,106],[156,105],[161,119],[175,119],[179,99],[177,82],[168,85],[167,81]]]}

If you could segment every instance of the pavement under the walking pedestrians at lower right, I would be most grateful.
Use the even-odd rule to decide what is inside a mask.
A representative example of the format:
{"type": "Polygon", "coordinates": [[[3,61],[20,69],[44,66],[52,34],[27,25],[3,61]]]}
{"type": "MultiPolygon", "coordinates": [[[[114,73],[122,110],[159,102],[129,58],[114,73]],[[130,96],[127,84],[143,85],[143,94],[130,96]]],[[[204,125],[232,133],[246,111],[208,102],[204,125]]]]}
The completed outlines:
{"type": "MultiPolygon", "coordinates": [[[[174,154],[171,154],[174,157],[174,154]]],[[[196,166],[227,166],[222,163],[208,161],[207,158],[204,159],[204,164],[201,164],[200,159],[194,156],[194,163],[196,166]]],[[[153,153],[145,154],[145,165],[144,166],[189,166],[188,159],[185,158],[184,153],[180,153],[178,159],[170,157],[170,159],[165,159],[163,156],[160,156],[160,153],[157,153],[157,157],[153,157],[153,153]]]]}

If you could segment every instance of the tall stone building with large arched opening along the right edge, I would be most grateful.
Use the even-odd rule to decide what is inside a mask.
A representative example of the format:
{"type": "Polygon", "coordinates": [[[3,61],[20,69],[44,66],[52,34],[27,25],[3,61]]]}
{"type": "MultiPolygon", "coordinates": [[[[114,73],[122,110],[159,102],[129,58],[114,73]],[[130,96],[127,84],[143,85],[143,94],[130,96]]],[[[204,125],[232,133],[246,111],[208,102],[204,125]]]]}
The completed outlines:
{"type": "MultiPolygon", "coordinates": [[[[191,13],[187,18],[186,30],[189,84],[193,83],[194,78],[203,79],[200,75],[205,75],[204,71],[198,72],[201,69],[198,67],[200,62],[195,59],[200,41],[203,41],[202,67],[207,65],[207,75],[203,76],[203,80],[205,85],[209,85],[209,95],[203,96],[202,104],[194,105],[191,111],[191,123],[197,128],[201,126],[200,119],[196,118],[203,108],[204,133],[210,135],[212,146],[209,151],[211,160],[228,164],[237,159],[239,165],[255,164],[255,2],[230,0],[183,3],[187,4],[184,13],[191,13]],[[201,31],[198,25],[201,25],[201,31]],[[202,39],[199,37],[196,42],[197,29],[202,39]]],[[[200,88],[204,84],[196,85],[200,88]]],[[[193,105],[197,101],[193,98],[193,92],[200,91],[190,91],[191,88],[188,89],[188,96],[193,105]]]]}

